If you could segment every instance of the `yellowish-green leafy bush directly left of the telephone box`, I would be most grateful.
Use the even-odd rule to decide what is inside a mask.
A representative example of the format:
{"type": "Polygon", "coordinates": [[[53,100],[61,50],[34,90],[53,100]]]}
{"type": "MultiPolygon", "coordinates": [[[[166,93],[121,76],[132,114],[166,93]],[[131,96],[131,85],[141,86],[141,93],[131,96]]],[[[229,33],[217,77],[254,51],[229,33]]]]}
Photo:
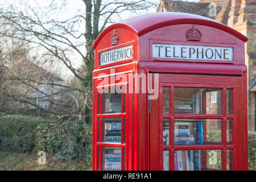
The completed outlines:
{"type": "Polygon", "coordinates": [[[55,159],[92,160],[92,128],[82,120],[64,126],[43,126],[36,134],[36,149],[55,155],[55,159]],[[52,128],[49,130],[49,128],[52,128]]]}

